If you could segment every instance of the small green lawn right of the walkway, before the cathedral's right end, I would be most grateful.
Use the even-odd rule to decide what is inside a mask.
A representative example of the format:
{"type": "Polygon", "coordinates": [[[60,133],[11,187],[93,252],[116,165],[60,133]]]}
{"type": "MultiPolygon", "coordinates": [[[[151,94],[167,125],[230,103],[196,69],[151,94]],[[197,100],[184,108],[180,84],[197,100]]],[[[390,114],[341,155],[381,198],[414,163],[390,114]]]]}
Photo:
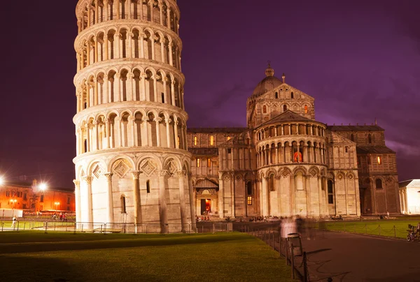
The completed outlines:
{"type": "Polygon", "coordinates": [[[417,225],[420,218],[404,218],[402,220],[378,220],[378,221],[328,221],[324,225],[318,225],[321,229],[379,235],[385,237],[407,237],[408,225],[417,225]]]}

